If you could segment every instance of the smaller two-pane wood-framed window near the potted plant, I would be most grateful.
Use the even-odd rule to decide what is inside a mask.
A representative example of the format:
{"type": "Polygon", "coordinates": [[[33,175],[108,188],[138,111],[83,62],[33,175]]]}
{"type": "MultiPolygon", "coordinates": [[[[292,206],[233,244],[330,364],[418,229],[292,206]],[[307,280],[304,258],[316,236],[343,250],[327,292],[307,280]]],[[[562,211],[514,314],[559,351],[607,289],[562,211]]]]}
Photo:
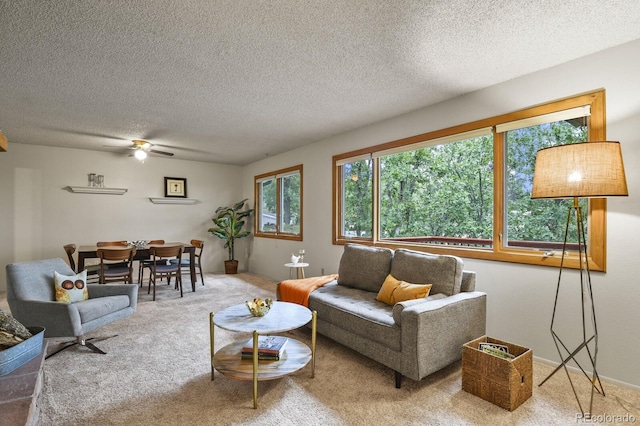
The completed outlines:
{"type": "Polygon", "coordinates": [[[302,240],[302,165],[255,177],[256,237],[302,240]]]}

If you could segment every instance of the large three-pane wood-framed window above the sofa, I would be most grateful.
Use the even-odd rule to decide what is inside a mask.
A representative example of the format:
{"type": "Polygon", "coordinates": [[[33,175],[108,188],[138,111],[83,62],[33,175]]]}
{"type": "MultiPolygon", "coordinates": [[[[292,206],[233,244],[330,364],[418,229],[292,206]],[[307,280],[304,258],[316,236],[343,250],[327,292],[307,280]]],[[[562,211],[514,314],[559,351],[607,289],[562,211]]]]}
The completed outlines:
{"type": "MultiPolygon", "coordinates": [[[[337,155],[334,243],[558,266],[572,200],[531,199],[536,153],[606,140],[604,115],[597,91],[337,155]]],[[[580,203],[590,267],[604,271],[605,201],[580,203]]],[[[572,251],[565,266],[577,264],[572,251]]]]}

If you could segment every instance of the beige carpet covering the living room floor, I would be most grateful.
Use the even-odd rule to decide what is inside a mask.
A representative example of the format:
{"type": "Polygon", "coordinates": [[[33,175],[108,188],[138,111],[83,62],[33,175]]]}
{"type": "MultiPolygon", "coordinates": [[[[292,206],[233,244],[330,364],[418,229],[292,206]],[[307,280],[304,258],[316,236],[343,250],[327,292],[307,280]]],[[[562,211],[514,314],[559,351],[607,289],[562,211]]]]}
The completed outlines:
{"type": "MultiPolygon", "coordinates": [[[[160,286],[152,302],[146,288],[138,311],[95,336],[107,355],[69,349],[45,363],[41,425],[552,425],[576,424],[577,403],[563,372],[538,387],[551,367],[534,362],[533,396],[513,412],[461,389],[456,363],[421,382],[394,387],[393,372],[319,336],[316,377],[310,367],[260,382],[258,409],[252,385],[216,373],[210,379],[209,312],[273,296],[275,283],[239,274],[207,275],[185,292],[160,286]]],[[[0,301],[0,307],[6,300],[0,301]]],[[[452,330],[455,332],[455,330],[452,330]]],[[[304,328],[290,335],[309,342],[304,328]]],[[[221,347],[241,336],[216,328],[221,347]]],[[[495,336],[499,337],[499,336],[495,336]]],[[[58,340],[52,339],[50,348],[58,340]]],[[[588,390],[584,377],[577,383],[588,390]]],[[[604,383],[596,396],[600,423],[640,419],[640,392],[604,383]],[[629,417],[631,416],[631,417],[629,417]]],[[[0,421],[0,424],[2,422],[0,421]]]]}

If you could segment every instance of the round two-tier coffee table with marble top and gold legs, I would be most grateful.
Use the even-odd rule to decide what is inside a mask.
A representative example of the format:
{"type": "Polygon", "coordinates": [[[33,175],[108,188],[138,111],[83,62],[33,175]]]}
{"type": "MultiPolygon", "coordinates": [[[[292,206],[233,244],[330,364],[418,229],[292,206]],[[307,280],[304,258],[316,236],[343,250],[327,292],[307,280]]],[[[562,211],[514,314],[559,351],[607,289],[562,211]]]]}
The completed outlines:
{"type": "Polygon", "coordinates": [[[218,313],[209,314],[211,339],[211,380],[214,370],[238,380],[253,381],[253,408],[258,408],[258,382],[284,377],[311,361],[311,377],[315,376],[316,354],[316,312],[309,308],[288,302],[273,302],[269,312],[263,317],[254,317],[244,303],[230,306],[218,313]],[[282,333],[300,328],[311,321],[311,348],[306,344],[287,337],[278,360],[258,359],[258,336],[282,333]],[[253,333],[253,359],[242,358],[242,347],[246,339],[235,341],[218,351],[214,346],[214,326],[238,332],[253,333]]]}

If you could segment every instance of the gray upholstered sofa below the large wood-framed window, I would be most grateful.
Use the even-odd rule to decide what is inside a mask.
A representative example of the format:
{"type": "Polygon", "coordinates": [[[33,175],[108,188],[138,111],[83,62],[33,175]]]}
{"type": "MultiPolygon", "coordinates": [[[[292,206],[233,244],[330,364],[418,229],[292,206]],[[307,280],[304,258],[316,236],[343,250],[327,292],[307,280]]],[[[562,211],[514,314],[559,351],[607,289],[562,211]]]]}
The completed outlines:
{"type": "Polygon", "coordinates": [[[462,260],[412,250],[346,244],[338,279],[311,293],[317,330],[395,371],[421,380],[462,358],[462,345],[486,331],[486,293],[462,260]],[[427,298],[389,306],[376,300],[387,275],[432,284],[427,298]]]}

